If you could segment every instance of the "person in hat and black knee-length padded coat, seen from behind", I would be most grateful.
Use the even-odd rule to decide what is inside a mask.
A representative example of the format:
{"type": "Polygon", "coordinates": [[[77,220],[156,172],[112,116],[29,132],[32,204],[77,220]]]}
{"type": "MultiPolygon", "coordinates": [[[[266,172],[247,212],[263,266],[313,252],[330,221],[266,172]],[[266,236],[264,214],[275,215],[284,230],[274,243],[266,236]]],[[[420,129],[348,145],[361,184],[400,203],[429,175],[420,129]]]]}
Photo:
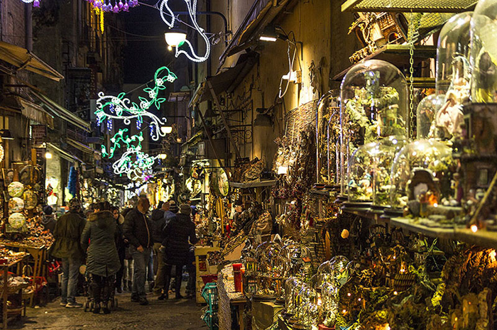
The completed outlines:
{"type": "Polygon", "coordinates": [[[182,204],[180,211],[165,224],[165,239],[162,242],[165,263],[165,285],[162,299],[168,299],[168,288],[171,281],[171,270],[176,266],[175,294],[181,299],[181,276],[183,266],[187,264],[190,243],[197,243],[195,224],[192,222],[190,205],[182,204]]]}

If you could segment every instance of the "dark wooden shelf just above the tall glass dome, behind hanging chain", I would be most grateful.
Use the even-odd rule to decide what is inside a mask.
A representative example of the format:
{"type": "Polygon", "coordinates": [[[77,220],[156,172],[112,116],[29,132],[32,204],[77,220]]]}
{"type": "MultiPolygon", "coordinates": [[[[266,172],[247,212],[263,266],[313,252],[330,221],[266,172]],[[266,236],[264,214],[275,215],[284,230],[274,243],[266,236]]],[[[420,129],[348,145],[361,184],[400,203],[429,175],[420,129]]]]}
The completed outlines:
{"type": "MultiPolygon", "coordinates": [[[[386,62],[393,63],[394,65],[409,65],[409,45],[384,45],[383,47],[376,50],[371,55],[364,58],[365,60],[384,60],[386,62]]],[[[414,48],[414,62],[419,63],[420,61],[427,60],[428,58],[435,58],[437,56],[437,47],[434,45],[416,45],[414,48]]],[[[347,67],[338,75],[333,77],[334,81],[340,82],[344,75],[353,67],[347,67]]],[[[414,78],[415,87],[429,87],[435,84],[435,78],[414,78]]]]}

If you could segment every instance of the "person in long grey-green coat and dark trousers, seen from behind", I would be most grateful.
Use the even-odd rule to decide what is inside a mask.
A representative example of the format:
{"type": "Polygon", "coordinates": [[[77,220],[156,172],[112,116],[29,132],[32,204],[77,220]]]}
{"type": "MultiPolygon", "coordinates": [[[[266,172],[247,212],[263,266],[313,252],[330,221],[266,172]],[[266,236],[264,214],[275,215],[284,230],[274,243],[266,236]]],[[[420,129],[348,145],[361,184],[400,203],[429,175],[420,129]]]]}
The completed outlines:
{"type": "Polygon", "coordinates": [[[94,300],[94,314],[99,314],[100,304],[104,314],[109,314],[109,299],[115,288],[115,276],[121,268],[116,248],[118,235],[116,219],[110,211],[109,202],[99,203],[95,213],[89,214],[84,227],[81,244],[88,248],[87,272],[94,300]]]}

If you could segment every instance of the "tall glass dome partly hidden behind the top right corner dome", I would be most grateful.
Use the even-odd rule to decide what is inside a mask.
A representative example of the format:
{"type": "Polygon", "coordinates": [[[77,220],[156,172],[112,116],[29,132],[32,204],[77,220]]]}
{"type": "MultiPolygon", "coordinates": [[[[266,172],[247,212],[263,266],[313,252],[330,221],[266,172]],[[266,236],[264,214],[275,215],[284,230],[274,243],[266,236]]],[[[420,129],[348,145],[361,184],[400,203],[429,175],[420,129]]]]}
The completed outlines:
{"type": "Polygon", "coordinates": [[[472,11],[458,13],[445,23],[438,38],[436,94],[457,90],[459,99],[469,98],[470,23],[472,11]]]}

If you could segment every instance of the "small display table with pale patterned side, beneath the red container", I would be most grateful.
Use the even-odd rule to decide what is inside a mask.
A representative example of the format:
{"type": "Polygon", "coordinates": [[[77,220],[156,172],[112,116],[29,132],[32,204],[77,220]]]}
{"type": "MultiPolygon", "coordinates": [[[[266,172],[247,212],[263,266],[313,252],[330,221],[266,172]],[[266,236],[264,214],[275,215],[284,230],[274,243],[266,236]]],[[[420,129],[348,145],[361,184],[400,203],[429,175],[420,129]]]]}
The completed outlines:
{"type": "Polygon", "coordinates": [[[231,275],[233,270],[224,268],[217,280],[219,330],[244,330],[244,309],[247,299],[241,292],[235,292],[233,280],[225,278],[231,275]]]}

